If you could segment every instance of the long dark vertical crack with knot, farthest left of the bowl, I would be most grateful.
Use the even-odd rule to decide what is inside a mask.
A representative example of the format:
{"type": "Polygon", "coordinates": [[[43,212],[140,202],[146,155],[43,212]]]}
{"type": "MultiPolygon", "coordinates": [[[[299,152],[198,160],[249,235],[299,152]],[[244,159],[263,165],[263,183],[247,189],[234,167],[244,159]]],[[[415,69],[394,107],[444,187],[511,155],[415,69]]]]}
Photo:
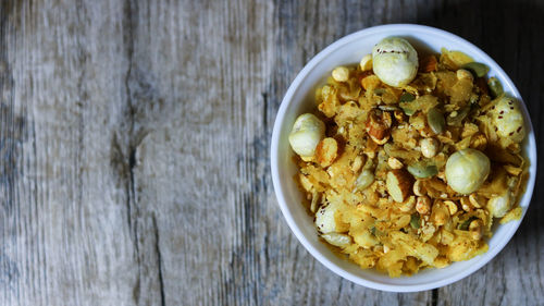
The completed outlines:
{"type": "MultiPolygon", "coordinates": [[[[144,72],[138,69],[138,64],[141,63],[138,62],[139,58],[135,58],[135,32],[137,30],[138,25],[137,16],[138,3],[136,1],[126,0],[124,2],[123,16],[123,44],[125,47],[126,58],[128,60],[124,78],[127,110],[124,114],[121,126],[121,132],[124,131],[124,133],[121,134],[124,136],[124,142],[116,142],[116,147],[118,151],[120,151],[123,156],[123,162],[125,164],[123,168],[127,194],[127,222],[132,231],[135,256],[138,265],[138,279],[133,290],[133,298],[136,304],[150,303],[148,299],[148,293],[152,286],[149,284],[150,278],[148,273],[150,271],[149,268],[152,267],[157,270],[160,305],[165,305],[164,279],[162,271],[163,265],[157,217],[154,213],[151,213],[151,224],[146,222],[146,220],[149,220],[147,219],[149,215],[141,211],[140,204],[138,203],[136,178],[138,147],[151,130],[153,119],[156,120],[161,117],[161,112],[156,115],[157,118],[153,118],[152,115],[157,105],[159,106],[158,109],[162,110],[161,106],[163,103],[163,99],[159,97],[153,83],[149,82],[150,72],[144,72]],[[123,150],[123,147],[126,148],[126,150],[123,150]],[[123,154],[123,151],[125,154],[123,154]],[[153,242],[149,242],[146,238],[146,236],[149,237],[148,234],[145,234],[148,231],[151,231],[151,235],[154,238],[153,245],[150,245],[153,242]],[[151,254],[148,254],[146,250],[154,252],[154,264],[148,262],[151,254]]],[[[118,137],[115,137],[115,139],[120,140],[118,137]]]]}

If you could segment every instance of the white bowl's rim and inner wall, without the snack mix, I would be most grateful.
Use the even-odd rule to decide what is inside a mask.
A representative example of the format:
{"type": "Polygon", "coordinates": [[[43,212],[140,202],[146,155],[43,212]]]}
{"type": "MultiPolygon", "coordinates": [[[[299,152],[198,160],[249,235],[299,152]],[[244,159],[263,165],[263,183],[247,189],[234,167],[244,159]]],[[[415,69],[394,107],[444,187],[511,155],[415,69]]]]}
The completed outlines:
{"type": "MultiPolygon", "coordinates": [[[[364,54],[371,53],[372,47],[378,41],[387,36],[404,37],[418,50],[428,48],[437,53],[444,47],[449,50],[463,51],[475,61],[487,64],[491,68],[490,76],[497,77],[506,93],[522,101],[518,89],[497,63],[474,45],[456,35],[437,28],[412,24],[392,24],[366,28],[326,47],[302,69],[289,86],[277,112],[272,134],[272,180],[280,208],[290,230],[306,249],[333,272],[357,284],[383,291],[415,292],[431,290],[458,281],[489,262],[508,243],[521,220],[497,227],[493,237],[489,241],[489,252],[471,260],[455,262],[443,269],[423,270],[412,277],[390,278],[375,270],[362,270],[355,264],[342,259],[318,238],[312,218],[301,205],[301,194],[293,180],[297,168],[292,161],[294,152],[289,147],[287,136],[299,114],[314,110],[313,95],[316,87],[324,84],[325,77],[335,66],[358,63],[364,54]]],[[[524,216],[531,200],[536,176],[536,145],[524,105],[523,111],[529,131],[523,149],[531,162],[529,169],[530,179],[520,204],[523,207],[524,216]]]]}

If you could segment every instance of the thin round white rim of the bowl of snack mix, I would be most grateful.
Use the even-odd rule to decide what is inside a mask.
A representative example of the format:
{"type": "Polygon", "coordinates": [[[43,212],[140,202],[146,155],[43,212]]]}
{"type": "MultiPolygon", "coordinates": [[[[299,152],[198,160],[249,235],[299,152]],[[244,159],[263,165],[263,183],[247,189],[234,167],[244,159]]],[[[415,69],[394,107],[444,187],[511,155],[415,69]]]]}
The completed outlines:
{"type": "MultiPolygon", "coordinates": [[[[490,57],[487,53],[485,53],[483,50],[474,46],[472,42],[455,35],[449,32],[426,26],[426,25],[419,25],[419,24],[386,24],[386,25],[378,25],[378,26],[372,26],[368,28],[363,28],[361,30],[351,33],[349,35],[346,35],[342,37],[338,40],[335,40],[333,44],[329,45],[326,48],[324,48],[322,51],[320,51],[318,54],[316,54],[305,66],[304,69],[297,74],[295,79],[289,85],[282,103],[280,106],[280,109],[277,111],[275,121],[274,121],[274,126],[273,126],[273,132],[272,132],[272,140],[271,140],[271,147],[270,147],[270,161],[271,161],[271,171],[272,171],[272,183],[274,186],[274,192],[276,195],[277,204],[280,206],[280,209],[282,211],[282,215],[284,216],[285,220],[287,221],[287,224],[292,232],[295,234],[295,236],[298,238],[298,241],[302,244],[302,246],[316,258],[318,261],[320,261],[322,265],[324,265],[327,269],[332,270],[334,273],[338,274],[339,277],[347,279],[356,284],[363,285],[367,287],[375,289],[375,290],[381,290],[381,291],[388,291],[388,292],[418,292],[418,291],[424,291],[424,290],[432,290],[436,287],[441,287],[450,283],[454,283],[458,280],[461,280],[471,273],[478,271],[480,268],[482,268],[484,265],[486,265],[489,261],[491,261],[505,246],[506,244],[511,240],[514,234],[517,232],[519,225],[521,224],[521,221],[523,220],[527,210],[529,209],[529,205],[531,203],[532,194],[533,194],[533,188],[535,184],[535,178],[536,178],[536,143],[535,143],[535,137],[534,137],[534,128],[531,122],[531,118],[529,117],[529,112],[527,109],[526,103],[523,102],[523,99],[518,91],[517,87],[514,85],[512,81],[508,77],[508,75],[505,73],[505,71],[490,57]],[[483,59],[483,62],[489,63],[493,66],[494,72],[497,75],[500,75],[500,78],[505,79],[509,87],[512,89],[512,96],[517,97],[521,101],[521,108],[524,111],[526,118],[529,119],[528,125],[529,125],[529,133],[527,135],[527,140],[528,140],[528,152],[527,157],[531,161],[531,164],[529,167],[529,180],[527,182],[526,186],[526,193],[529,193],[528,197],[528,203],[527,206],[523,209],[522,216],[519,220],[512,221],[516,222],[514,227],[510,228],[509,232],[506,232],[505,238],[499,241],[497,246],[493,248],[492,250],[487,250],[485,254],[481,255],[483,260],[478,260],[474,262],[474,265],[470,266],[466,270],[454,274],[448,278],[444,278],[437,282],[433,283],[419,283],[419,284],[407,284],[407,285],[399,285],[399,284],[385,284],[385,283],[380,283],[375,282],[372,280],[367,280],[363,279],[359,276],[353,274],[351,272],[345,270],[344,268],[337,266],[335,262],[332,262],[329,260],[320,250],[314,248],[311,243],[306,238],[305,234],[298,227],[297,222],[295,222],[292,212],[289,211],[289,208],[287,207],[287,199],[285,198],[284,191],[282,189],[282,185],[280,183],[280,174],[279,174],[279,143],[280,143],[280,130],[283,125],[283,121],[287,111],[287,106],[289,102],[293,100],[293,96],[297,88],[300,86],[300,83],[302,79],[309,74],[311,70],[313,70],[323,59],[329,57],[331,53],[336,51],[337,49],[342,48],[343,46],[353,42],[354,40],[357,40],[363,36],[368,35],[375,35],[375,34],[391,34],[394,35],[395,30],[401,30],[401,32],[407,32],[407,30],[415,30],[419,33],[432,33],[433,35],[440,35],[443,37],[447,37],[450,40],[457,41],[460,45],[468,45],[475,49],[479,52],[479,57],[483,59]]],[[[522,201],[524,204],[524,201],[522,201]]],[[[521,203],[520,203],[521,204],[521,203]]]]}

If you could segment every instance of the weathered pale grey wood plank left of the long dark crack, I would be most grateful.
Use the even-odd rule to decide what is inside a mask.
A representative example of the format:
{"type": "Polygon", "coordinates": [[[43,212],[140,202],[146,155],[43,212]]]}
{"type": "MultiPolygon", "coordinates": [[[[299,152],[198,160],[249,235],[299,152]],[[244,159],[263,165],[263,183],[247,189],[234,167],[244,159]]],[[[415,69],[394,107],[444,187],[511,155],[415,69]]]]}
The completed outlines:
{"type": "Polygon", "coordinates": [[[3,305],[132,301],[128,198],[112,169],[126,101],[122,13],[120,3],[2,2],[2,133],[13,135],[2,137],[13,139],[2,160],[12,195],[2,200],[3,305]]]}

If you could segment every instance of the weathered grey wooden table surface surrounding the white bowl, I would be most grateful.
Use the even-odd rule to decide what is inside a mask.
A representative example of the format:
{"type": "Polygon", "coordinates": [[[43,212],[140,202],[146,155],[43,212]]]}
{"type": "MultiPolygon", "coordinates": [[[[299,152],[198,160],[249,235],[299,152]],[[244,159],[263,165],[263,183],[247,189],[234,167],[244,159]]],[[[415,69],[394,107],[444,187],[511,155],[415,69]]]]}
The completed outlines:
{"type": "Polygon", "coordinates": [[[482,48],[540,136],[543,16],[530,0],[2,0],[0,305],[544,305],[543,162],[493,261],[410,294],[313,259],[280,212],[269,162],[300,69],[385,23],[482,48]]]}

